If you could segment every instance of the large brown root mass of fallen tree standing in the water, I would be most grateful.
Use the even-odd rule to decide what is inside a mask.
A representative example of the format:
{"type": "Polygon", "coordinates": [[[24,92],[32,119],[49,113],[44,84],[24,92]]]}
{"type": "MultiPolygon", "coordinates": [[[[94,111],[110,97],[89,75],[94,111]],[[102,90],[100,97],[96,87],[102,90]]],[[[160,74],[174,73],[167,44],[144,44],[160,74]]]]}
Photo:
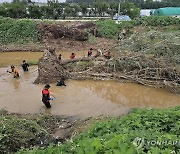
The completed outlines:
{"type": "Polygon", "coordinates": [[[59,63],[55,52],[52,49],[45,51],[38,63],[38,77],[34,83],[52,83],[60,78],[66,78],[67,72],[59,63]]]}

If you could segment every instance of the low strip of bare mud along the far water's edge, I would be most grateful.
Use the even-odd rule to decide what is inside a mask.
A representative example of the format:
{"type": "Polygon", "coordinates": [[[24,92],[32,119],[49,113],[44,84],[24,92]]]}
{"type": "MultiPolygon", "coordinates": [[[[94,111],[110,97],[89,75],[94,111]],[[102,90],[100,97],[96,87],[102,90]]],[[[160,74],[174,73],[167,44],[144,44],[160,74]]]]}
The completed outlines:
{"type": "Polygon", "coordinates": [[[28,43],[28,44],[7,44],[0,46],[0,52],[43,52],[44,50],[49,48],[55,48],[56,51],[69,51],[69,52],[77,52],[77,51],[88,51],[89,48],[95,49],[108,49],[113,46],[117,41],[107,39],[107,38],[94,38],[94,42],[91,41],[75,41],[68,39],[49,39],[46,42],[39,43],[28,43]]]}

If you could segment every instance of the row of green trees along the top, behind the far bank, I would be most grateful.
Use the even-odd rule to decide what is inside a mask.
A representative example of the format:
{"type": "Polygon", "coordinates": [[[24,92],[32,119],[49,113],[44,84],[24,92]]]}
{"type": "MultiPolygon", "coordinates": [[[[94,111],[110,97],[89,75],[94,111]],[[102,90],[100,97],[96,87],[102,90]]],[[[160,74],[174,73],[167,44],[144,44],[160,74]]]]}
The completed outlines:
{"type": "MultiPolygon", "coordinates": [[[[47,5],[37,6],[30,0],[14,0],[12,3],[0,5],[0,16],[11,18],[59,19],[66,17],[113,16],[118,12],[118,2],[96,1],[88,3],[59,3],[56,0],[48,1],[47,5]]],[[[123,2],[121,14],[131,18],[139,16],[140,9],[131,2],[123,2]]]]}

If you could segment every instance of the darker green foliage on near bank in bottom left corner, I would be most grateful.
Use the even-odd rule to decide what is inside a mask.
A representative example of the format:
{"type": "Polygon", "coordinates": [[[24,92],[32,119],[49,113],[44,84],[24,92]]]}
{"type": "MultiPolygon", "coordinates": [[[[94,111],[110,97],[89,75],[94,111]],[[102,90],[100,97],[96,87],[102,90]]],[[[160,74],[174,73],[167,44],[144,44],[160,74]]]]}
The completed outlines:
{"type": "Polygon", "coordinates": [[[0,116],[0,153],[46,144],[46,138],[50,138],[48,133],[31,120],[12,115],[0,116]]]}

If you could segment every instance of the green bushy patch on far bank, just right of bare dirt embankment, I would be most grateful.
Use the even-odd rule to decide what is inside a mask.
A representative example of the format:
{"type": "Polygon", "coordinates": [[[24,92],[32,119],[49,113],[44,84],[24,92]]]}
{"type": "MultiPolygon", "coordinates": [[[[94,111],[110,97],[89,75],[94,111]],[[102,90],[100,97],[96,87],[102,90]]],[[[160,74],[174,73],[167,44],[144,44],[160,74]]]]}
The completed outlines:
{"type": "Polygon", "coordinates": [[[118,38],[119,28],[113,20],[104,20],[96,22],[98,33],[107,38],[118,38]]]}

